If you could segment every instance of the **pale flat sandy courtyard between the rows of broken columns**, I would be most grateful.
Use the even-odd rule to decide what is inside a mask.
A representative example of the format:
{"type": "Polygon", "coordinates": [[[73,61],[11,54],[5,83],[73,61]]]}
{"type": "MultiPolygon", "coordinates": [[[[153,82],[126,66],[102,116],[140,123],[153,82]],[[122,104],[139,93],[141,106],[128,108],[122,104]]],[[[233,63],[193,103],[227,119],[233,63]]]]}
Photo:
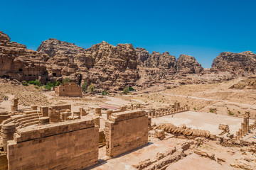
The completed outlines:
{"type": "MultiPolygon", "coordinates": [[[[173,115],[165,115],[159,118],[152,118],[152,123],[172,123],[176,126],[186,124],[193,129],[209,130],[211,134],[218,135],[220,124],[228,124],[230,133],[235,134],[243,122],[242,118],[236,118],[228,115],[215,115],[214,113],[201,113],[188,111],[173,115]]],[[[250,120],[250,123],[254,120],[250,120]]],[[[255,140],[256,142],[256,140],[255,140]]]]}

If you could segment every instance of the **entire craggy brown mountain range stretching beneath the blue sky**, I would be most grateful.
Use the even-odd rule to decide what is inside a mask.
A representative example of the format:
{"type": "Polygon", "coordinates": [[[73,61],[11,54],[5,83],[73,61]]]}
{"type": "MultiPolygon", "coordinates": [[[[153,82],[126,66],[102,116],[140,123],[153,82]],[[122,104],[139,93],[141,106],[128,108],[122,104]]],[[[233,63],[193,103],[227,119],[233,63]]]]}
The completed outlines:
{"type": "Polygon", "coordinates": [[[142,47],[134,49],[132,44],[114,46],[105,41],[84,49],[50,38],[33,51],[0,32],[0,77],[18,81],[39,79],[44,84],[68,77],[78,84],[95,84],[99,90],[118,91],[126,86],[144,89],[176,80],[191,84],[220,81],[220,77],[233,79],[255,74],[255,66],[256,55],[249,51],[222,52],[209,71],[189,55],[176,60],[169,52],[150,54],[142,47]]]}

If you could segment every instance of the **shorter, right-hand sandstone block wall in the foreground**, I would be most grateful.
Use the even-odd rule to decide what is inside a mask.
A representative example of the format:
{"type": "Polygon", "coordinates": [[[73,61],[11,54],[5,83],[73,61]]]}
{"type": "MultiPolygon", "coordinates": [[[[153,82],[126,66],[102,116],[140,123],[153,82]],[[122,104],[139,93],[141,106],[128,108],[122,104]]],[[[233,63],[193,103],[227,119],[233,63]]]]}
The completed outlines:
{"type": "Polygon", "coordinates": [[[148,117],[145,111],[112,113],[105,123],[107,156],[137,149],[148,143],[148,117]]]}

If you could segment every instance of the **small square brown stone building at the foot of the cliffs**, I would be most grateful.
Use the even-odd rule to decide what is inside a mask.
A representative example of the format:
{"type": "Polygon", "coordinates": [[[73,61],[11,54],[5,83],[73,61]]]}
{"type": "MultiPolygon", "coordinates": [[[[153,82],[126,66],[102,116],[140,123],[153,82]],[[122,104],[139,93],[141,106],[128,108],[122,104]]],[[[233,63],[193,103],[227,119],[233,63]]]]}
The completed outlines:
{"type": "Polygon", "coordinates": [[[75,83],[65,83],[64,86],[60,84],[55,88],[55,94],[67,97],[82,97],[82,87],[75,83]]]}

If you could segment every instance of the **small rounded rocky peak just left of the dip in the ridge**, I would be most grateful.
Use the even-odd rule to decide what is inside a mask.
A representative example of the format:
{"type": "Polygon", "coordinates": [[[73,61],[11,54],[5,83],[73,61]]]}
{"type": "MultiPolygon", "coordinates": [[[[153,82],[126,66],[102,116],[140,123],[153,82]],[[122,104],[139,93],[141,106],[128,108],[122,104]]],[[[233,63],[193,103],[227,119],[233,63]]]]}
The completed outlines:
{"type": "Polygon", "coordinates": [[[190,55],[180,55],[177,60],[177,72],[181,74],[198,74],[203,67],[190,55]]]}

